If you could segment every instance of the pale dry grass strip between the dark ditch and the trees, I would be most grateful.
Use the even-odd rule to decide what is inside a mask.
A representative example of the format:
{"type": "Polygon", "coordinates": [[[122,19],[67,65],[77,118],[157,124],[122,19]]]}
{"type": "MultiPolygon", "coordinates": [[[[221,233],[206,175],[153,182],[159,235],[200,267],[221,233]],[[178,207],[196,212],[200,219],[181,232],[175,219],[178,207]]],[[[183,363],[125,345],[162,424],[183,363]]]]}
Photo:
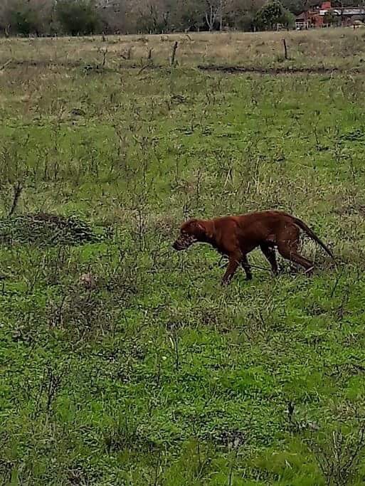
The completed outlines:
{"type": "Polygon", "coordinates": [[[80,38],[0,38],[1,65],[70,68],[86,63],[110,70],[131,65],[168,65],[177,41],[180,68],[209,63],[253,68],[309,67],[365,70],[365,29],[325,28],[322,31],[261,33],[180,33],[170,36],[110,36],[80,38]],[[288,47],[284,59],[282,39],[288,47]]]}

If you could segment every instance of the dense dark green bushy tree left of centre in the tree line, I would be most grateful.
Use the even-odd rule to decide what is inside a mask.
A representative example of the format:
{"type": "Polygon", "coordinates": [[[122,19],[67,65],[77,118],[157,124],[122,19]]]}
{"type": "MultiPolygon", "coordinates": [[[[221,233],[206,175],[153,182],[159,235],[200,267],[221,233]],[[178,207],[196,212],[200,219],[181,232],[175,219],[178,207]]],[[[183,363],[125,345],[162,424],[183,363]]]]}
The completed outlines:
{"type": "Polygon", "coordinates": [[[100,25],[92,0],[58,0],[55,16],[63,32],[71,36],[95,33],[100,25]]]}

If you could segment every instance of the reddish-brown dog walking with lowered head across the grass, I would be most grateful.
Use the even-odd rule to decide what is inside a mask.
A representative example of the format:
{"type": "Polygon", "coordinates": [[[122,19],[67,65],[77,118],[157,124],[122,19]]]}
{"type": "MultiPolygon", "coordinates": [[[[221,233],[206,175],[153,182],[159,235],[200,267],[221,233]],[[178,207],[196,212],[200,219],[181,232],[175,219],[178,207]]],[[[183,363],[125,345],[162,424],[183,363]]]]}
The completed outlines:
{"type": "Polygon", "coordinates": [[[282,211],[261,211],[242,216],[226,216],[216,219],[191,219],[180,228],[180,236],[175,241],[175,250],[186,250],[193,243],[209,243],[219,253],[228,256],[228,268],[223,275],[223,284],[233,278],[238,265],[245,270],[247,280],[252,279],[247,254],[260,246],[269,260],[273,273],[277,275],[275,248],[280,255],[305,268],[307,273],[314,268],[313,263],[298,253],[300,230],[305,231],[334,258],[332,252],[318,236],[295,216],[282,211]]]}

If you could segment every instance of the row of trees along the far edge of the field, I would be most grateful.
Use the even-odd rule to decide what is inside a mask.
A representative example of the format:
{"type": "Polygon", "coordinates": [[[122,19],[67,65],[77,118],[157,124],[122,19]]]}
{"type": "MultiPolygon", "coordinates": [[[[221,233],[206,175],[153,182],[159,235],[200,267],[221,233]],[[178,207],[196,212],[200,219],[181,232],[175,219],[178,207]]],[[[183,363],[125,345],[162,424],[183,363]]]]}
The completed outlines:
{"type": "Polygon", "coordinates": [[[311,0],[0,0],[0,33],[85,35],[290,27],[311,0]]]}

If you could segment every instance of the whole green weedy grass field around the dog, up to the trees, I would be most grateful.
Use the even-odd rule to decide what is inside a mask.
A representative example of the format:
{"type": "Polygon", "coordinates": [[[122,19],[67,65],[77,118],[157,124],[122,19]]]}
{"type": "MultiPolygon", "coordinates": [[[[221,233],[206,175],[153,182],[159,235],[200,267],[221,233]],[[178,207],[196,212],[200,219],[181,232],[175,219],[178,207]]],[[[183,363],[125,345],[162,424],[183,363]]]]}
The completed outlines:
{"type": "Polygon", "coordinates": [[[364,34],[285,33],[287,61],[282,36],[192,36],[176,68],[174,36],[0,41],[1,484],[364,485],[364,34]],[[171,248],[264,208],[337,265],[305,240],[312,278],[254,252],[223,288],[211,248],[171,248]]]}

